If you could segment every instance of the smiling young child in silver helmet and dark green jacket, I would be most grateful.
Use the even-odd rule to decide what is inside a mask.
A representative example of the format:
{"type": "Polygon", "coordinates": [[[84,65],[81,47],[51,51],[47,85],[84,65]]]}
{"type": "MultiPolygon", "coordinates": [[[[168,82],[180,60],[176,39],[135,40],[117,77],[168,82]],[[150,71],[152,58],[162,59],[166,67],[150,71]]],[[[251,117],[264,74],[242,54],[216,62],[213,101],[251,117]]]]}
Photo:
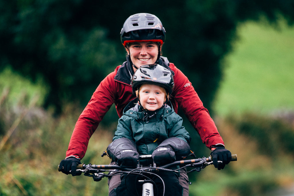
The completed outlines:
{"type": "MultiPolygon", "coordinates": [[[[134,73],[132,89],[137,99],[124,109],[113,142],[107,148],[109,157],[116,164],[136,167],[139,155],[152,154],[157,165],[164,165],[190,153],[191,138],[182,126],[183,119],[168,105],[173,86],[172,72],[158,64],[141,66],[134,73]]],[[[140,164],[148,166],[153,162],[140,161],[140,164]]],[[[166,185],[165,195],[182,195],[183,187],[175,172],[161,171],[159,175],[166,185]]],[[[117,187],[116,194],[129,195],[128,190],[136,193],[136,177],[138,176],[128,176],[125,180],[126,175],[121,175],[121,184],[117,187]]],[[[153,180],[159,182],[159,179],[153,180]]]]}

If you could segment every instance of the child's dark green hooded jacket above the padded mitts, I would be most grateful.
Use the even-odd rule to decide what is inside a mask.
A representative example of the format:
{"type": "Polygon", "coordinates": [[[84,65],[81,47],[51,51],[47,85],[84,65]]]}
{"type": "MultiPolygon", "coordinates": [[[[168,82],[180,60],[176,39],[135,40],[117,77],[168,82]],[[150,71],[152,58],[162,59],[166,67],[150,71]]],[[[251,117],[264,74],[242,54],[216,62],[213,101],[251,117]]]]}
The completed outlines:
{"type": "Polygon", "coordinates": [[[182,126],[183,119],[174,112],[172,106],[165,104],[151,117],[143,120],[146,111],[136,103],[137,99],[131,101],[123,110],[113,140],[128,138],[135,141],[140,155],[151,155],[163,140],[171,137],[190,143],[191,137],[182,126]]]}

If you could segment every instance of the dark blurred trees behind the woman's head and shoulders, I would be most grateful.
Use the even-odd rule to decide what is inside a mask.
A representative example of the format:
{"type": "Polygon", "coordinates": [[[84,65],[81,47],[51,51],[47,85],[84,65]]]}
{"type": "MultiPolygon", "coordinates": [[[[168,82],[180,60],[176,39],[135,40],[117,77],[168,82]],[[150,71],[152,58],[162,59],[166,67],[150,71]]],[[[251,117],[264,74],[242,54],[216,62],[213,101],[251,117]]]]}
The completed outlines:
{"type": "Polygon", "coordinates": [[[100,81],[125,61],[119,32],[138,12],[156,14],[167,31],[163,54],[191,80],[210,109],[222,78],[221,59],[231,49],[238,22],[293,23],[288,1],[0,0],[0,71],[7,65],[50,86],[45,107],[60,112],[68,101],[85,105],[100,81]],[[111,10],[111,11],[110,11],[111,10]],[[184,49],[183,49],[184,48],[184,49]]]}

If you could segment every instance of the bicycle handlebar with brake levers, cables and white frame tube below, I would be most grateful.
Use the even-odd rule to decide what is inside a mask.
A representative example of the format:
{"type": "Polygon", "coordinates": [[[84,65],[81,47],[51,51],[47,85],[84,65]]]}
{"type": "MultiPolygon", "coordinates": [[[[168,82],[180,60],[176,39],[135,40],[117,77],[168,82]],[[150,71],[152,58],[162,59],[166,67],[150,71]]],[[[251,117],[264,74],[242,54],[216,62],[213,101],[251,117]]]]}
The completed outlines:
{"type": "MultiPolygon", "coordinates": [[[[143,160],[143,159],[152,159],[152,155],[140,155],[139,160],[143,160]]],[[[164,195],[165,182],[160,177],[160,175],[156,174],[156,172],[158,172],[159,170],[178,172],[178,173],[181,173],[181,172],[188,173],[188,172],[194,172],[194,171],[200,172],[207,165],[213,164],[211,156],[209,156],[208,158],[203,157],[203,158],[175,161],[173,163],[169,163],[169,164],[163,165],[161,167],[157,167],[155,163],[153,166],[150,165],[147,167],[142,167],[142,165],[140,165],[139,160],[138,160],[137,168],[126,168],[126,167],[120,167],[118,165],[92,165],[90,163],[88,165],[86,165],[86,164],[77,165],[76,172],[83,172],[85,176],[93,177],[93,180],[96,182],[100,181],[103,177],[108,178],[108,177],[111,177],[114,175],[121,175],[123,173],[126,174],[126,177],[128,177],[129,174],[138,175],[137,176],[137,177],[139,177],[138,182],[143,183],[142,195],[147,195],[147,193],[148,193],[148,195],[150,193],[151,193],[151,195],[154,195],[153,190],[158,190],[158,185],[150,178],[150,175],[151,175],[151,177],[157,177],[158,179],[161,180],[161,184],[163,186],[163,195],[164,195]],[[180,166],[180,167],[176,167],[176,169],[175,169],[171,166],[180,166]],[[170,168],[168,168],[168,167],[170,167],[170,168]],[[181,170],[184,167],[194,167],[194,168],[189,171],[181,170]],[[106,172],[108,172],[108,174],[106,174],[106,172]],[[153,183],[151,183],[151,182],[153,182],[153,183]],[[156,188],[153,188],[153,185],[156,188]],[[146,191],[144,191],[144,190],[146,190],[146,191]],[[152,190],[152,191],[150,192],[150,190],[152,190]]],[[[231,160],[236,161],[237,155],[232,155],[231,160]]],[[[218,163],[222,163],[222,162],[218,161],[218,163]]],[[[58,165],[58,171],[61,171],[59,168],[59,165],[58,165]]],[[[69,173],[71,173],[71,171],[69,171],[69,173]]],[[[126,178],[125,178],[125,181],[126,181],[126,178]]],[[[136,187],[136,185],[135,185],[135,189],[138,193],[137,188],[138,187],[136,187]]],[[[128,190],[127,186],[126,186],[126,189],[128,190]]]]}

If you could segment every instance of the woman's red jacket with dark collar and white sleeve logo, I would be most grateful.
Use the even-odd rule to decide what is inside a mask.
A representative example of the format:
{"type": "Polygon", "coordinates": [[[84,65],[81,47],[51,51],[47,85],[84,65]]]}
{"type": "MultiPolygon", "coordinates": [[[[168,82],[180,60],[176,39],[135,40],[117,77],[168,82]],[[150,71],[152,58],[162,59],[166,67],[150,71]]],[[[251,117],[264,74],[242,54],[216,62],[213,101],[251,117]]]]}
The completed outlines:
{"type": "MultiPolygon", "coordinates": [[[[208,148],[211,145],[224,145],[215,123],[208,110],[203,107],[203,103],[188,78],[173,63],[168,63],[164,57],[161,57],[157,63],[169,66],[174,72],[175,87],[170,100],[175,112],[178,112],[179,104],[208,148]]],[[[132,68],[127,61],[101,81],[78,118],[69,142],[66,158],[70,156],[84,157],[91,135],[113,103],[116,105],[118,117],[122,116],[125,106],[136,98],[132,94],[132,74],[132,68]]]]}

